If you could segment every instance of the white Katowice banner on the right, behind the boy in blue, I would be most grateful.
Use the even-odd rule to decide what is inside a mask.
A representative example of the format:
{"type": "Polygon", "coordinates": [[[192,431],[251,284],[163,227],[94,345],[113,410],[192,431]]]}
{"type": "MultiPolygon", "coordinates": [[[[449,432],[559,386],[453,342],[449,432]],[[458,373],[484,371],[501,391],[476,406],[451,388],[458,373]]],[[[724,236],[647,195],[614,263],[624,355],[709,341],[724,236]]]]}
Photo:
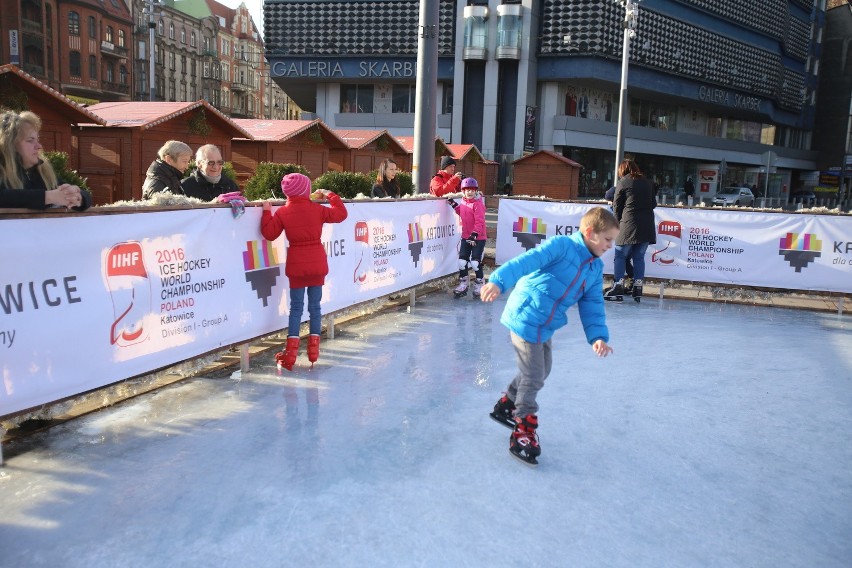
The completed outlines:
{"type": "MultiPolygon", "coordinates": [[[[501,199],[497,263],[579,231],[594,206],[501,199]]],[[[852,293],[851,216],[657,207],[655,222],[649,278],[852,293]]],[[[602,259],[612,274],[613,250],[602,259]]]]}

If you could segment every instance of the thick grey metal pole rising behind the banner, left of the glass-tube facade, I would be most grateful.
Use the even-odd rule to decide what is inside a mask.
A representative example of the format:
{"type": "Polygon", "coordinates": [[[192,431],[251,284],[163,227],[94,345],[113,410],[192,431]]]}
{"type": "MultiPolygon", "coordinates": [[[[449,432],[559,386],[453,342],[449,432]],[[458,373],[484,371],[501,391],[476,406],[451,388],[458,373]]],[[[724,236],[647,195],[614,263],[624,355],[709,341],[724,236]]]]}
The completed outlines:
{"type": "Polygon", "coordinates": [[[414,163],[411,177],[417,193],[429,193],[435,163],[435,109],[438,94],[438,0],[420,1],[415,83],[414,163]]]}

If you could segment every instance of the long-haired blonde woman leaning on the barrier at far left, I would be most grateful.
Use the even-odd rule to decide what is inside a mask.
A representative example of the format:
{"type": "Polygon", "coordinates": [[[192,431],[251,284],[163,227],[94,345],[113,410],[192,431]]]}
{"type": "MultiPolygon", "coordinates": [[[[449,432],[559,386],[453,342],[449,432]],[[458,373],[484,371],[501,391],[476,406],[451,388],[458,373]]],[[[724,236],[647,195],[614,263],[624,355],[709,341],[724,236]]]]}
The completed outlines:
{"type": "Polygon", "coordinates": [[[84,211],[92,195],[69,183],[60,184],[39,142],[41,119],[35,113],[0,114],[0,207],[84,211]]]}

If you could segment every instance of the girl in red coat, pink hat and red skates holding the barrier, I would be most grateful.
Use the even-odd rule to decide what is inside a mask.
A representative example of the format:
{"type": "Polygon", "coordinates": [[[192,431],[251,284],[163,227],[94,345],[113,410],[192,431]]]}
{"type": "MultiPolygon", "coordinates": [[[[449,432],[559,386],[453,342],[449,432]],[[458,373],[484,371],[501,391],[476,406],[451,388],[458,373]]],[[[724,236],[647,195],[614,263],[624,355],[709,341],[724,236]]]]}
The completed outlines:
{"type": "Polygon", "coordinates": [[[327,189],[322,193],[331,207],[311,201],[311,180],[302,174],[287,174],[281,180],[281,190],[287,203],[272,214],[272,205],[263,204],[260,232],[267,240],[274,241],[283,231],[287,237],[287,263],[284,273],[290,280],[290,321],[287,327],[287,345],[275,355],[278,368],[293,370],[299,354],[299,326],[305,308],[305,289],[308,293],[310,314],[310,336],[308,337],[308,360],[311,366],[319,359],[319,336],[322,331],[322,286],[328,274],[328,258],[322,246],[324,223],[340,223],[346,219],[346,206],[337,194],[327,189]]]}

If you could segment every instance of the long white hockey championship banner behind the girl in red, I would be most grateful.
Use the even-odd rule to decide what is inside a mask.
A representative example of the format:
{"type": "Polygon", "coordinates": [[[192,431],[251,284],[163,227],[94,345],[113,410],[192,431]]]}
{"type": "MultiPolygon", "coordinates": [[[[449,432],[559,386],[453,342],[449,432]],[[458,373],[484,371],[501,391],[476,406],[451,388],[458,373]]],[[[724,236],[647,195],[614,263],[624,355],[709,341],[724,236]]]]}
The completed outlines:
{"type": "MultiPolygon", "coordinates": [[[[346,207],[323,230],[324,314],[458,269],[446,201],[346,207]]],[[[0,416],[286,327],[286,239],[260,214],[0,219],[0,416]]]]}

